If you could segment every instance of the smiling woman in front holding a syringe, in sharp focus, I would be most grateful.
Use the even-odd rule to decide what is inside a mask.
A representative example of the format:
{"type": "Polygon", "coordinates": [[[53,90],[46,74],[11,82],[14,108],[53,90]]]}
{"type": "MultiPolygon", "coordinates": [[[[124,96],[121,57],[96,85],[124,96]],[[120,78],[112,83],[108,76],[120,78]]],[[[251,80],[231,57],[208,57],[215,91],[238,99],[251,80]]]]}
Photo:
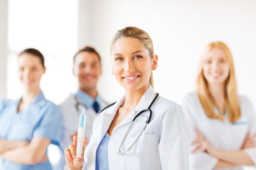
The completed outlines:
{"type": "Polygon", "coordinates": [[[126,27],[114,35],[110,52],[112,74],[125,95],[95,118],[85,163],[73,156],[74,137],[74,144],[65,150],[67,166],[71,170],[188,170],[189,127],[182,107],[153,90],[152,70],[158,57],[150,36],[126,27]],[[152,110],[151,120],[150,111],[141,113],[128,132],[135,116],[147,108],[152,110]]]}

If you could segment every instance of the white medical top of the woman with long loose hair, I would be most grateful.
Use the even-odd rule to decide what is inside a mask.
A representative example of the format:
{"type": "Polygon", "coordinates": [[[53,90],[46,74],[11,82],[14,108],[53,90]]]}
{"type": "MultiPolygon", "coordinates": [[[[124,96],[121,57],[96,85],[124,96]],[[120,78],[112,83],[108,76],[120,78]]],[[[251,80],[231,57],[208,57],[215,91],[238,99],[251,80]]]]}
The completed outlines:
{"type": "MultiPolygon", "coordinates": [[[[239,104],[241,117],[231,124],[227,115],[223,121],[207,117],[195,92],[187,94],[182,100],[182,107],[191,128],[197,128],[214,148],[227,151],[240,150],[247,132],[250,132],[251,135],[256,133],[256,115],[252,103],[246,97],[239,96],[239,104]]],[[[192,140],[197,138],[194,130],[191,135],[192,140]]],[[[256,163],[256,148],[246,149],[245,152],[256,163]]],[[[212,170],[216,163],[218,163],[218,159],[206,152],[191,153],[190,155],[190,170],[212,170]]],[[[222,168],[222,170],[243,170],[243,167],[222,168]]]]}

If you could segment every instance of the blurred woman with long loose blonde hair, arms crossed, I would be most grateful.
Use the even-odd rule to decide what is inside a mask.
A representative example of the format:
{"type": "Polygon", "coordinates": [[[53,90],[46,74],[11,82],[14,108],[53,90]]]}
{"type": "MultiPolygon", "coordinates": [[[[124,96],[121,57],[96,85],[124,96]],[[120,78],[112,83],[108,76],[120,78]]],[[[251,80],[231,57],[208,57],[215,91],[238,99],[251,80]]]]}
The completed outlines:
{"type": "Polygon", "coordinates": [[[182,102],[193,129],[191,170],[243,170],[256,163],[256,115],[252,103],[236,93],[234,64],[222,42],[206,46],[197,91],[182,102]]]}

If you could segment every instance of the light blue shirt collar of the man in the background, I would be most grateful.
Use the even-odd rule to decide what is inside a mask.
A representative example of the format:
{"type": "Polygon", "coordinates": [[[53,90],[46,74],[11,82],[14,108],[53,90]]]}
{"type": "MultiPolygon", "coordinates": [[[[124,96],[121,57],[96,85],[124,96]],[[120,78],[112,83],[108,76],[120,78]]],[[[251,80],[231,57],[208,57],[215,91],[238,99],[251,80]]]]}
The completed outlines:
{"type": "Polygon", "coordinates": [[[83,103],[83,101],[85,101],[84,105],[85,105],[86,108],[92,108],[92,105],[94,104],[95,101],[97,101],[98,104],[100,105],[99,95],[97,95],[97,97],[94,99],[90,95],[81,91],[80,89],[78,89],[76,91],[75,95],[80,99],[81,103],[83,103]]]}

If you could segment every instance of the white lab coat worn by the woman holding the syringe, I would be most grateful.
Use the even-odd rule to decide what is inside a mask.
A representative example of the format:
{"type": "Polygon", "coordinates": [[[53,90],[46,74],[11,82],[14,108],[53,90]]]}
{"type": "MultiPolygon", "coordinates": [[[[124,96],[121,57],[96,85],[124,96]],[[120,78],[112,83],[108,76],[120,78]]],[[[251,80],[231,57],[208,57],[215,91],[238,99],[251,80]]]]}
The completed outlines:
{"type": "MultiPolygon", "coordinates": [[[[117,153],[132,119],[139,111],[148,108],[154,97],[155,92],[149,86],[135,110],[113,129],[108,145],[110,170],[189,170],[191,138],[183,109],[177,103],[161,96],[151,108],[153,113],[151,122],[131,148],[130,154],[117,153]]],[[[97,148],[123,102],[124,97],[110,108],[103,110],[94,120],[91,141],[85,151],[83,169],[95,170],[97,148]]],[[[135,123],[126,138],[124,150],[132,145],[144,125],[144,118],[135,123]]],[[[67,166],[66,168],[68,169],[67,166]]]]}

